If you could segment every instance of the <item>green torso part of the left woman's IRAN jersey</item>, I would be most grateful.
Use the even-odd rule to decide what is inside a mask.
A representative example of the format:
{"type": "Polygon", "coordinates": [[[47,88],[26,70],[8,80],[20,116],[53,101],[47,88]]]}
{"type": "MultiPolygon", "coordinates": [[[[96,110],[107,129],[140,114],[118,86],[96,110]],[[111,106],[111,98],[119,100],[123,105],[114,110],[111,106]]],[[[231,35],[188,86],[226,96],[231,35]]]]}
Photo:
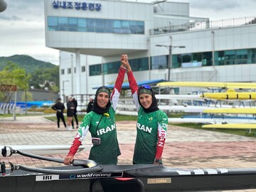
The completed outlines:
{"type": "MultiPolygon", "coordinates": [[[[117,164],[117,156],[120,150],[117,141],[117,129],[114,120],[114,109],[110,107],[109,117],[95,112],[85,115],[80,124],[78,132],[80,135],[86,134],[84,131],[89,128],[92,138],[100,139],[100,144],[93,144],[90,149],[89,159],[99,164],[117,164]]],[[[81,140],[83,137],[80,138],[81,140]]]]}

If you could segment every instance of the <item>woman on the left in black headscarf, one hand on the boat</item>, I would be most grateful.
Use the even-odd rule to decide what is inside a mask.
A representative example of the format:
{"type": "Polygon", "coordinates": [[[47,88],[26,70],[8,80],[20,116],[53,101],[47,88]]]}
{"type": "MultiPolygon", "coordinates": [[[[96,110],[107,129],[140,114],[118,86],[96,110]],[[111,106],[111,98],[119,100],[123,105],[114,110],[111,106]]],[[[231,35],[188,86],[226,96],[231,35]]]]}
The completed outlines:
{"type": "Polygon", "coordinates": [[[78,151],[82,140],[89,131],[92,136],[92,148],[89,159],[98,164],[117,164],[117,156],[121,154],[117,141],[117,129],[115,123],[115,110],[124,81],[126,69],[121,63],[114,90],[111,92],[108,87],[99,87],[95,93],[92,112],[85,115],[78,133],[75,135],[70,151],[64,160],[69,165],[78,151]]]}

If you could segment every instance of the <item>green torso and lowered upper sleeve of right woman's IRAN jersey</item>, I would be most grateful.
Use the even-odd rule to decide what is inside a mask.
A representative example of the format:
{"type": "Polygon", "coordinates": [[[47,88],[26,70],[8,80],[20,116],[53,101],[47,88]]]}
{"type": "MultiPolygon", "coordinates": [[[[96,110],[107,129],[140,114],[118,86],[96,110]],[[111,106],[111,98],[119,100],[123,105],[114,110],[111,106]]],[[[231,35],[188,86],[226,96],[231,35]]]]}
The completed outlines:
{"type": "Polygon", "coordinates": [[[164,142],[161,144],[159,138],[165,137],[167,125],[168,117],[163,111],[146,113],[142,107],[139,108],[134,164],[153,164],[157,154],[157,145],[160,149],[164,148],[164,142]]]}

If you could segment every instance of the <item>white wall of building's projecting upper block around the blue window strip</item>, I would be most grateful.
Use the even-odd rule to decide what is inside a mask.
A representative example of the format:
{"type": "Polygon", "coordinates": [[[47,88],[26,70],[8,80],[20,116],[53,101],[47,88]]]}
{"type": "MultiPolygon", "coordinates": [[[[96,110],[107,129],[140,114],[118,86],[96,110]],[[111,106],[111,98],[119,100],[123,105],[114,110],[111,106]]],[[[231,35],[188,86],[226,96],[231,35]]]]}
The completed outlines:
{"type": "MultiPolygon", "coordinates": [[[[75,2],[75,0],[70,0],[75,2]]],[[[46,46],[73,51],[80,48],[87,55],[104,55],[113,50],[147,50],[146,38],[154,27],[153,4],[129,1],[97,1],[102,4],[100,11],[78,11],[75,9],[54,9],[50,0],[45,0],[46,28],[47,16],[69,16],[82,18],[109,18],[144,21],[145,34],[80,33],[46,30],[46,46]],[[100,49],[102,51],[100,51],[100,49]],[[104,50],[105,49],[105,50],[104,50]]]]}

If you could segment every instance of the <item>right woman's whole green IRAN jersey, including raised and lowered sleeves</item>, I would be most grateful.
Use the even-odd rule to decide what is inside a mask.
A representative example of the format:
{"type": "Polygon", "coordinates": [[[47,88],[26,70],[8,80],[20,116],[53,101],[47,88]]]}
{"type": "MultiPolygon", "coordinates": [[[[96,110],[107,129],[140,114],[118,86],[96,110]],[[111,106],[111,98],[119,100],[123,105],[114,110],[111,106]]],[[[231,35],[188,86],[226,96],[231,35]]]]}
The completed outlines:
{"type": "Polygon", "coordinates": [[[166,140],[168,117],[161,111],[144,112],[139,104],[138,85],[132,73],[127,72],[129,87],[138,112],[137,137],[134,149],[134,164],[154,164],[162,163],[161,156],[166,140]]]}

